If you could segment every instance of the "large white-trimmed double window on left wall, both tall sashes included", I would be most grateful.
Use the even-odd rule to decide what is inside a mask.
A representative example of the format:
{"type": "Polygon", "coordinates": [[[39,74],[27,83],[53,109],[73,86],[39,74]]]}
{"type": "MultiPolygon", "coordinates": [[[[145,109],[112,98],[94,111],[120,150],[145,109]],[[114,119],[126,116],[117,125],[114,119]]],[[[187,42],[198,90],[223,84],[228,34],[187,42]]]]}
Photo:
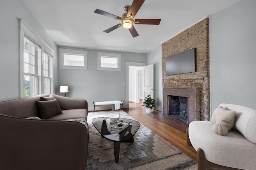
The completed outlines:
{"type": "Polygon", "coordinates": [[[22,19],[19,28],[20,97],[54,93],[54,51],[22,19]]]}

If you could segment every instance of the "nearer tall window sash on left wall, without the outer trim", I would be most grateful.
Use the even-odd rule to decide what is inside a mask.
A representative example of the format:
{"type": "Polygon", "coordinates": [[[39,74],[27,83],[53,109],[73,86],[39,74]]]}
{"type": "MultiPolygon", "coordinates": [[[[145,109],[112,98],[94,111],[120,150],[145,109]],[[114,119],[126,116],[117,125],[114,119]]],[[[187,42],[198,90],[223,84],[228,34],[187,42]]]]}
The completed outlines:
{"type": "Polygon", "coordinates": [[[24,38],[24,97],[38,94],[37,52],[38,47],[24,38]]]}

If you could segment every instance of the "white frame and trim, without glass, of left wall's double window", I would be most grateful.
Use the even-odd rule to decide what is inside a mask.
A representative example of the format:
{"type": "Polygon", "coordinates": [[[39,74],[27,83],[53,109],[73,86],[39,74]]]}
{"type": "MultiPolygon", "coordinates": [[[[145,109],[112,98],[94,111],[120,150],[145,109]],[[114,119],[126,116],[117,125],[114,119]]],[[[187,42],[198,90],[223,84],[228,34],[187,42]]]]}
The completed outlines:
{"type": "MultiPolygon", "coordinates": [[[[38,46],[38,53],[37,53],[37,94],[44,94],[44,76],[43,76],[43,57],[44,53],[48,54],[50,57],[53,58],[55,51],[47,45],[44,40],[36,34],[36,32],[26,24],[24,20],[18,18],[18,28],[19,28],[19,57],[20,57],[20,71],[19,71],[19,97],[24,97],[24,38],[28,39],[30,42],[34,43],[38,46]]],[[[51,65],[51,93],[54,93],[53,90],[53,64],[51,65]]]]}

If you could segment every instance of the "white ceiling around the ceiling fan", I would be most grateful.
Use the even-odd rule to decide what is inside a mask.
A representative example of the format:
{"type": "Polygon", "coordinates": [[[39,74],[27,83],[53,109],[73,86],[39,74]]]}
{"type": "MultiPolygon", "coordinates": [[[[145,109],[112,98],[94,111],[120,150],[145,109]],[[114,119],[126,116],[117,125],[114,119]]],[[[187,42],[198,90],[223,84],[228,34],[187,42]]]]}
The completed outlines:
{"type": "Polygon", "coordinates": [[[238,0],[145,0],[134,19],[161,19],[160,25],[134,25],[129,30],[104,30],[121,23],[94,13],[98,8],[122,17],[132,0],[22,0],[52,39],[62,46],[148,53],[206,16],[238,0]]]}

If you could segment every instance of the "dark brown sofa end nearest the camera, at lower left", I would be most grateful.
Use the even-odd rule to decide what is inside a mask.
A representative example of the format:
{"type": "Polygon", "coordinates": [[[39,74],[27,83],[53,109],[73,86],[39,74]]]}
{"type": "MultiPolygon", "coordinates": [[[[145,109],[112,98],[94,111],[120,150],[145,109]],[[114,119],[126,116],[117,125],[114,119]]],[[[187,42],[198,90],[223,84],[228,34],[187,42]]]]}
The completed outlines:
{"type": "Polygon", "coordinates": [[[0,169],[83,170],[88,136],[82,123],[0,115],[0,169]]]}

